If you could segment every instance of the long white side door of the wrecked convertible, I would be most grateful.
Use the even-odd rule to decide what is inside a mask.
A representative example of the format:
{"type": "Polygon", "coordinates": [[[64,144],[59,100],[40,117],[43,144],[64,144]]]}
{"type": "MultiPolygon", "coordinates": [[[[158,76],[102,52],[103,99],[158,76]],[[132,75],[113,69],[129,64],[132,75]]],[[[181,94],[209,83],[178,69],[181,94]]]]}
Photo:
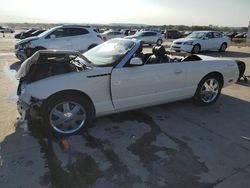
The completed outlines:
{"type": "Polygon", "coordinates": [[[128,109],[181,99],[185,78],[182,63],[115,68],[111,73],[114,107],[128,109]]]}

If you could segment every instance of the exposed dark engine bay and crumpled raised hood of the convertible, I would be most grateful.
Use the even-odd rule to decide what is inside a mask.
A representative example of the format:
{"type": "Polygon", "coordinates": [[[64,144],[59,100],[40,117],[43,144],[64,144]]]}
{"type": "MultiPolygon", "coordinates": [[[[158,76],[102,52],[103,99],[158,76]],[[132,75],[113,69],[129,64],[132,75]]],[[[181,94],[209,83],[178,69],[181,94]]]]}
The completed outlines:
{"type": "Polygon", "coordinates": [[[32,83],[54,75],[85,70],[87,67],[80,63],[79,54],[72,51],[39,51],[22,64],[16,77],[32,83]]]}

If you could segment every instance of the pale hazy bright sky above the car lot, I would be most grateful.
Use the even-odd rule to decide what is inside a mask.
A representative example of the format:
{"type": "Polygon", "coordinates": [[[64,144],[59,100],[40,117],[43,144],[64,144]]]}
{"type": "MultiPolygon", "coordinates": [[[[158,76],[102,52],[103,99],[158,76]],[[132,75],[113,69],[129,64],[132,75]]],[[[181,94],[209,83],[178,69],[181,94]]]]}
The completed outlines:
{"type": "Polygon", "coordinates": [[[0,0],[0,22],[246,27],[250,0],[0,0]]]}

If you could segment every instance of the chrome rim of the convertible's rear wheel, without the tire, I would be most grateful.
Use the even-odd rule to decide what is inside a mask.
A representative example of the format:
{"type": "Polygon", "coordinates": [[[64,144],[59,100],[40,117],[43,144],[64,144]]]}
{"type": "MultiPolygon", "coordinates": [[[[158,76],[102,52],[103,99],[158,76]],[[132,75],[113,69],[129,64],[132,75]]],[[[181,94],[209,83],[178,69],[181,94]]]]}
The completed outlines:
{"type": "Polygon", "coordinates": [[[201,87],[201,99],[205,103],[211,103],[215,100],[219,93],[219,82],[214,79],[210,78],[204,82],[201,87]]]}

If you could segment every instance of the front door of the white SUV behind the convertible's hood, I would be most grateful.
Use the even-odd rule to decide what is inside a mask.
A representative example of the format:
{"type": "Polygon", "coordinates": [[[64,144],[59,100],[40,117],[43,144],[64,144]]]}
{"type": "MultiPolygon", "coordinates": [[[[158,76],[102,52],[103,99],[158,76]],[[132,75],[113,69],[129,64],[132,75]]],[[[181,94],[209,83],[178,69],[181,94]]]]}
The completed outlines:
{"type": "Polygon", "coordinates": [[[47,49],[71,50],[70,38],[65,28],[58,28],[45,37],[43,46],[47,49]]]}

